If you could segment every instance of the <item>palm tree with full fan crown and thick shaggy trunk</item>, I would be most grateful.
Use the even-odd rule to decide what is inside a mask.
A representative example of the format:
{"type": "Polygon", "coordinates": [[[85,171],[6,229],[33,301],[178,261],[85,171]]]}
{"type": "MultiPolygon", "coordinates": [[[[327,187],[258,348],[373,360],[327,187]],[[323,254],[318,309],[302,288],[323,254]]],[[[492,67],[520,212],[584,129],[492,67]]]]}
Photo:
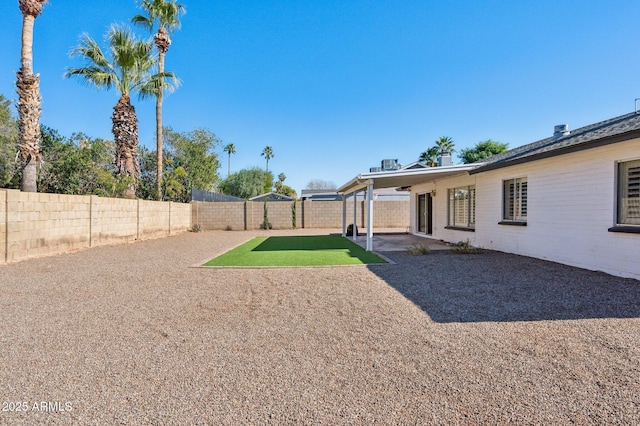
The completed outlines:
{"type": "Polygon", "coordinates": [[[71,51],[71,56],[80,56],[87,66],[70,68],[65,77],[78,76],[85,83],[98,89],[115,88],[120,93],[118,103],[111,116],[112,131],[116,143],[116,174],[129,176],[131,184],[126,196],[135,197],[135,187],[140,176],[138,160],[138,117],[131,104],[131,95],[141,98],[153,96],[159,87],[173,88],[166,79],[172,73],[152,74],[155,58],[151,55],[150,42],[138,40],[126,27],[112,26],[107,33],[111,58],[108,58],[98,43],[84,34],[81,43],[71,51]]]}

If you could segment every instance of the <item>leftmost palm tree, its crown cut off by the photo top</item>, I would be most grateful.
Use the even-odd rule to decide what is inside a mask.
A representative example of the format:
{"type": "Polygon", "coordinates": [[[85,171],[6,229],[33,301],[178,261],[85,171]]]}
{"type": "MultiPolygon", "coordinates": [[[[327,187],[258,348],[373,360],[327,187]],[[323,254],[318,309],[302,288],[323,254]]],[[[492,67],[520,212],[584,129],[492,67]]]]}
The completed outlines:
{"type": "Polygon", "coordinates": [[[18,126],[20,130],[21,189],[37,192],[37,163],[40,156],[40,75],[33,74],[33,25],[47,0],[18,0],[22,12],[22,49],[20,71],[16,73],[18,87],[18,126]]]}

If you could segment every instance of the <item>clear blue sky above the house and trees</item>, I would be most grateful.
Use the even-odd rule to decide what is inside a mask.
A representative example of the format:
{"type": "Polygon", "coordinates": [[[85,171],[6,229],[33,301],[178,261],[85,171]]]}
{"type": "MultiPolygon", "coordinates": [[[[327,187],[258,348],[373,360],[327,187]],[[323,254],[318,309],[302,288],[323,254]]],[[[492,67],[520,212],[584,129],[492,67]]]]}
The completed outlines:
{"type": "MultiPolygon", "coordinates": [[[[0,5],[0,93],[15,98],[21,14],[0,5]]],[[[182,86],[164,123],[232,142],[231,170],[284,172],[298,192],[341,185],[383,158],[403,164],[440,136],[458,149],[516,147],[630,112],[640,97],[640,2],[204,1],[187,14],[166,67],[182,86]]],[[[102,40],[139,13],[134,0],[50,0],[35,24],[41,122],[64,135],[112,138],[115,92],[64,79],[83,32],[102,40]]],[[[141,35],[147,36],[140,31],[141,35]]],[[[134,101],[140,143],[155,146],[154,101],[134,101]]],[[[220,174],[226,176],[226,155],[220,174]]]]}

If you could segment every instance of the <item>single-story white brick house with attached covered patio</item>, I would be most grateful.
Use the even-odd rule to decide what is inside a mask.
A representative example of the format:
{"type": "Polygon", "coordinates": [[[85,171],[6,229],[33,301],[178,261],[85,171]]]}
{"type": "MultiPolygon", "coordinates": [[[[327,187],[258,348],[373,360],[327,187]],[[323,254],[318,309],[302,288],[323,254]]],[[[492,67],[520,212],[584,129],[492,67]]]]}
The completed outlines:
{"type": "Polygon", "coordinates": [[[478,163],[361,174],[338,192],[383,187],[410,192],[414,234],[640,279],[640,112],[555,126],[478,163]]]}

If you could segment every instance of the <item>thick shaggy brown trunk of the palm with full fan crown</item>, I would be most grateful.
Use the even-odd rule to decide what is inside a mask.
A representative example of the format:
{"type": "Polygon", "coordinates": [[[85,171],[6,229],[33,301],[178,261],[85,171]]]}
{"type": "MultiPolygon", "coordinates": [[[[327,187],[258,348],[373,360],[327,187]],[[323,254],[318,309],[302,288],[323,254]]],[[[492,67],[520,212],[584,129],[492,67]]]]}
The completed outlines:
{"type": "Polygon", "coordinates": [[[131,105],[129,95],[123,94],[111,116],[113,138],[116,143],[116,173],[133,178],[133,183],[125,193],[126,198],[135,198],[135,190],[140,177],[138,161],[138,117],[131,105]]]}

